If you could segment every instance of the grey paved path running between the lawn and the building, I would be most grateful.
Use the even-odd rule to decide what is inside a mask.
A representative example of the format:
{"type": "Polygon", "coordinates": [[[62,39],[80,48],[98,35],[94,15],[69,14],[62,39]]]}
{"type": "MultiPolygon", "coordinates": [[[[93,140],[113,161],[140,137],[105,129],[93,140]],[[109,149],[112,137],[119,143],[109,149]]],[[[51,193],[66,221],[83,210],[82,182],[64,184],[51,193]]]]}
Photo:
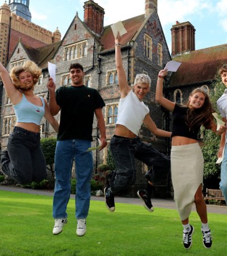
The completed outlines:
{"type": "MultiPolygon", "coordinates": [[[[0,185],[0,191],[12,191],[12,192],[22,192],[22,193],[30,193],[35,195],[47,195],[47,196],[53,196],[53,191],[45,191],[45,190],[39,190],[39,189],[28,189],[28,188],[21,188],[21,187],[13,187],[13,186],[3,186],[0,185]]],[[[71,198],[74,198],[75,195],[71,195],[71,198]]],[[[91,196],[91,200],[96,201],[103,201],[104,203],[104,197],[103,196],[91,196]]],[[[136,204],[136,205],[142,205],[142,201],[139,198],[128,198],[128,197],[115,197],[115,202],[117,203],[124,203],[124,204],[136,204]]],[[[176,209],[175,203],[173,199],[152,199],[152,204],[154,207],[158,208],[167,208],[167,209],[176,209]]],[[[195,209],[195,204],[192,207],[192,210],[195,209]]],[[[220,206],[220,205],[207,205],[208,213],[220,213],[220,214],[227,214],[227,207],[226,206],[220,206]]]]}

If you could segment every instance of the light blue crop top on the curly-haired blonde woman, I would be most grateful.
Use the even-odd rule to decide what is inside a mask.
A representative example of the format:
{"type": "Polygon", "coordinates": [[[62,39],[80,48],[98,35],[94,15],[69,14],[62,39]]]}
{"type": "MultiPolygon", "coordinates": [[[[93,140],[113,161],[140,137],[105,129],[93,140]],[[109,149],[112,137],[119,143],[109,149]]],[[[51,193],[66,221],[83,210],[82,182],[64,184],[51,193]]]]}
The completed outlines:
{"type": "Polygon", "coordinates": [[[36,125],[40,125],[41,119],[45,114],[44,98],[40,97],[43,106],[36,106],[28,101],[24,94],[22,95],[22,100],[14,105],[16,122],[35,123],[36,125]]]}

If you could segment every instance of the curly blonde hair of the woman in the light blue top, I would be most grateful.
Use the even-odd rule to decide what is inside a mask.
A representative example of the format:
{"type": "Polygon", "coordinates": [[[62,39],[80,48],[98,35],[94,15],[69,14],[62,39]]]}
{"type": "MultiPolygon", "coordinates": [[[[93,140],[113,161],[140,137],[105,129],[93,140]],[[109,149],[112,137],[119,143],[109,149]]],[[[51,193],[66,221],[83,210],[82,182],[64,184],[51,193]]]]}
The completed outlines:
{"type": "Polygon", "coordinates": [[[13,67],[10,71],[10,77],[12,79],[12,83],[17,89],[20,88],[21,85],[18,76],[22,72],[30,72],[32,74],[34,85],[39,81],[39,77],[42,73],[41,69],[30,60],[26,61],[23,66],[13,67]]]}

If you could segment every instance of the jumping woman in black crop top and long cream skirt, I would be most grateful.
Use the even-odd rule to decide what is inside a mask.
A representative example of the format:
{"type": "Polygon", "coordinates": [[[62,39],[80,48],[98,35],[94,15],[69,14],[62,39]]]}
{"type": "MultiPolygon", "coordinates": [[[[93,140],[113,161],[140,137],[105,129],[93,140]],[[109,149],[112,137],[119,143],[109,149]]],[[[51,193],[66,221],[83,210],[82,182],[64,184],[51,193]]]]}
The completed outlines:
{"type": "Polygon", "coordinates": [[[183,245],[189,249],[192,245],[194,227],[189,224],[192,204],[195,203],[201,220],[203,245],[209,249],[212,245],[211,230],[208,226],[207,206],[203,199],[204,159],[197,135],[203,125],[220,135],[226,130],[213,122],[212,104],[204,90],[192,91],[185,106],[176,104],[163,97],[163,80],[167,70],[158,74],[155,99],[164,108],[173,112],[173,132],[171,147],[171,178],[174,188],[174,200],[183,225],[183,245]]]}

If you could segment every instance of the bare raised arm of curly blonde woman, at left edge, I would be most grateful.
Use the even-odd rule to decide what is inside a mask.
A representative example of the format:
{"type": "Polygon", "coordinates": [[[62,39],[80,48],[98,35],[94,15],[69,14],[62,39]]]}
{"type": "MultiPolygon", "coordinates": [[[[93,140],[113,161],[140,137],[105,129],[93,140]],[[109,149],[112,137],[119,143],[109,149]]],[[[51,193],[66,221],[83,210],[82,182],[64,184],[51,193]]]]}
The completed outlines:
{"type": "Polygon", "coordinates": [[[12,104],[15,104],[15,100],[18,98],[19,94],[21,93],[12,84],[10,75],[1,62],[0,62],[0,75],[1,75],[2,82],[4,84],[7,96],[10,98],[12,104]]]}

